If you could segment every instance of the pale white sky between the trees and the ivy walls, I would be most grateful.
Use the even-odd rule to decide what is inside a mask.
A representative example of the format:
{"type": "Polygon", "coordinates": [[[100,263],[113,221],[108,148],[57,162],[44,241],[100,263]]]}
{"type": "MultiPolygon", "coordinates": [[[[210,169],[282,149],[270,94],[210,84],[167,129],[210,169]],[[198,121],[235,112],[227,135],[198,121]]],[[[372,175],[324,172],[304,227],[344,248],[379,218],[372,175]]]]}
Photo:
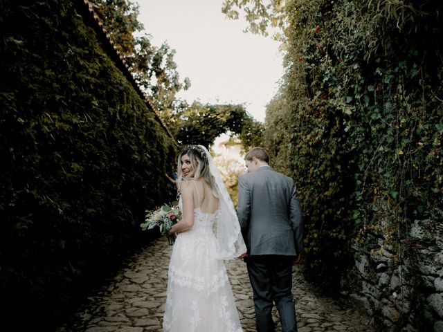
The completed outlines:
{"type": "Polygon", "coordinates": [[[191,87],[179,98],[192,103],[244,104],[256,120],[264,121],[266,104],[283,75],[279,43],[271,37],[244,33],[244,19],[230,20],[221,12],[222,0],[137,0],[138,20],[152,42],[167,42],[174,60],[191,87]]]}

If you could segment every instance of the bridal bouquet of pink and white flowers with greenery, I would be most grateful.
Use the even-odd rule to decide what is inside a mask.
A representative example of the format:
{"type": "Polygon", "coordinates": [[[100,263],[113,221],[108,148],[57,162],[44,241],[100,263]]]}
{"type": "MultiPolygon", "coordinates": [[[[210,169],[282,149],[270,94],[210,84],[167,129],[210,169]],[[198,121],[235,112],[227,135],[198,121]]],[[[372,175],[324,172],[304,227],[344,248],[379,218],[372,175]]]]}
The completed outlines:
{"type": "Polygon", "coordinates": [[[174,244],[175,236],[168,236],[168,230],[181,219],[179,205],[177,202],[173,203],[175,204],[165,204],[154,211],[146,210],[145,223],[140,224],[142,230],[152,230],[158,227],[162,235],[167,234],[171,246],[174,244]]]}

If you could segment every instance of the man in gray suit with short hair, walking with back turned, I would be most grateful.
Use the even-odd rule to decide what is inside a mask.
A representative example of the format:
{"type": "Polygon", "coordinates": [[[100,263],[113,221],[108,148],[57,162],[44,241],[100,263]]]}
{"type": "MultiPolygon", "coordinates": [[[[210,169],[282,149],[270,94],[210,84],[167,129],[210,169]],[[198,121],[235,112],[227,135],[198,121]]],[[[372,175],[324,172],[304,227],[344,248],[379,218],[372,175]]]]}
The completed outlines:
{"type": "Polygon", "coordinates": [[[277,306],[283,332],[297,331],[292,266],[303,249],[303,221],[293,180],[269,167],[269,155],[253,147],[245,156],[248,173],[238,178],[237,216],[248,257],[257,332],[275,331],[277,306]]]}

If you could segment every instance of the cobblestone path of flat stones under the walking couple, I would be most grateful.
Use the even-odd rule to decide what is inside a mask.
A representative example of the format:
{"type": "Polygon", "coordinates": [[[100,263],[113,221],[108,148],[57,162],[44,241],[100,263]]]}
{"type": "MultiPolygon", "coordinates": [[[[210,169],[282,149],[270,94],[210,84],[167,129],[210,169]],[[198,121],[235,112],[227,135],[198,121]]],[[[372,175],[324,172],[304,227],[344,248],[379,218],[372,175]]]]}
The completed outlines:
{"type": "MultiPolygon", "coordinates": [[[[168,264],[172,246],[165,237],[125,262],[125,268],[79,308],[57,332],[162,331],[168,264]]],[[[226,261],[226,269],[245,332],[255,331],[252,290],[243,261],[226,261]]],[[[293,293],[299,332],[375,331],[355,308],[343,308],[318,295],[298,269],[293,271],[293,293]]],[[[274,320],[278,314],[274,310],[274,320]]],[[[277,326],[277,331],[281,331],[277,326]]],[[[210,332],[210,331],[208,331],[210,332]]]]}

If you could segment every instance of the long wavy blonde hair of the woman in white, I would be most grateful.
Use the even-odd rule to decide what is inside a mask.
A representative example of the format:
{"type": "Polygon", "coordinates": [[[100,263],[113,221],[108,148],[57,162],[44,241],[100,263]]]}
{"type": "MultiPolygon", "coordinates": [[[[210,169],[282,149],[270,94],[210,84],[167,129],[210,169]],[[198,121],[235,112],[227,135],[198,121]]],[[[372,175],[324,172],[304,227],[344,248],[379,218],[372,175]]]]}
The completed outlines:
{"type": "Polygon", "coordinates": [[[185,147],[183,151],[181,151],[181,154],[179,155],[179,160],[177,161],[177,173],[179,175],[178,182],[181,183],[185,181],[185,176],[183,174],[183,171],[181,170],[181,157],[185,154],[188,155],[191,161],[192,169],[195,169],[193,178],[195,180],[203,178],[204,181],[208,183],[214,196],[219,198],[219,188],[215,183],[214,176],[210,174],[208,156],[206,156],[205,151],[203,151],[198,145],[189,145],[188,147],[185,147]]]}

